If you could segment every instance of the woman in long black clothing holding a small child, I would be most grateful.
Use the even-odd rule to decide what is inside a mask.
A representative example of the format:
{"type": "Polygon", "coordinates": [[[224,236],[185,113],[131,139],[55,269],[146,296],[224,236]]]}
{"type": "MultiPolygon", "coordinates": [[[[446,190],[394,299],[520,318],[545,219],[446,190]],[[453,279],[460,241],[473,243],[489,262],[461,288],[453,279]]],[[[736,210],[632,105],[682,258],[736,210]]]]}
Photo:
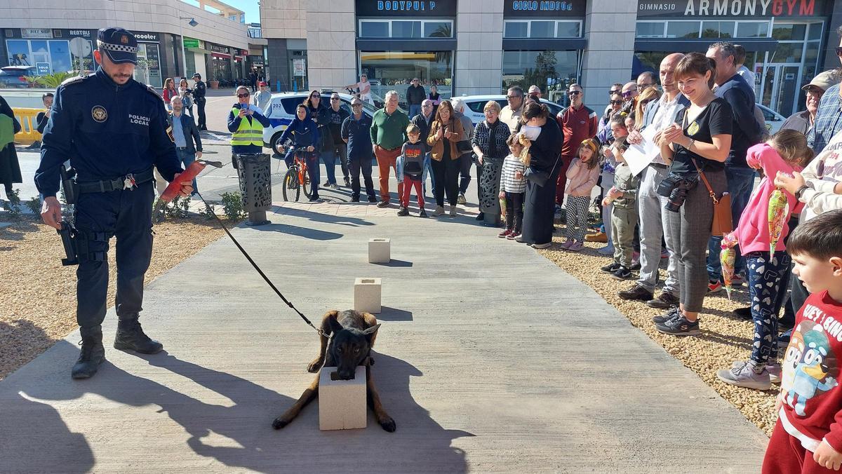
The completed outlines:
{"type": "Polygon", "coordinates": [[[552,243],[552,219],[556,210],[556,181],[564,135],[556,120],[547,120],[546,105],[530,102],[523,112],[520,133],[530,138],[530,166],[526,168],[523,233],[519,242],[534,248],[552,243]],[[537,137],[536,137],[537,135],[537,137]]]}

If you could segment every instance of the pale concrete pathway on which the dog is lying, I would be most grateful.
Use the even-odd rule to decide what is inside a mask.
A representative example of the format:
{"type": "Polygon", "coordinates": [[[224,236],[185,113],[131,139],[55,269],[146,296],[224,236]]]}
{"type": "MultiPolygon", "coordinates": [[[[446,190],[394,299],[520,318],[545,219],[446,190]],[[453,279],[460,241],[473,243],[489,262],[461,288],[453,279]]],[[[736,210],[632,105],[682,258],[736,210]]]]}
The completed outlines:
{"type": "Polygon", "coordinates": [[[222,238],[147,286],[165,353],[107,344],[72,381],[73,333],[0,381],[0,471],[759,471],[765,435],[585,285],[468,216],[394,210],[279,203],[234,232],[314,321],[383,279],[373,370],[396,433],[370,413],[319,431],[317,403],[271,429],[317,335],[222,238]],[[367,263],[370,237],[391,264],[367,263]]]}

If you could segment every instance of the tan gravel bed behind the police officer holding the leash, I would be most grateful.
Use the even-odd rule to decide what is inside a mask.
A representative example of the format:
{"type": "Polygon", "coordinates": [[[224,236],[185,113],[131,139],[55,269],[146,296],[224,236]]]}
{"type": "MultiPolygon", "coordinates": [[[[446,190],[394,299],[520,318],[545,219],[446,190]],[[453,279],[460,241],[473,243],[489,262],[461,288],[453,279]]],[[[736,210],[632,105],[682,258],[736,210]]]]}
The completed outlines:
{"type": "MultiPolygon", "coordinates": [[[[154,229],[147,283],[224,233],[216,221],[200,216],[165,221],[154,229]]],[[[0,380],[77,328],[77,267],[62,266],[63,256],[56,230],[31,218],[0,229],[0,380]]],[[[115,298],[114,258],[112,240],[108,301],[115,298]]]]}

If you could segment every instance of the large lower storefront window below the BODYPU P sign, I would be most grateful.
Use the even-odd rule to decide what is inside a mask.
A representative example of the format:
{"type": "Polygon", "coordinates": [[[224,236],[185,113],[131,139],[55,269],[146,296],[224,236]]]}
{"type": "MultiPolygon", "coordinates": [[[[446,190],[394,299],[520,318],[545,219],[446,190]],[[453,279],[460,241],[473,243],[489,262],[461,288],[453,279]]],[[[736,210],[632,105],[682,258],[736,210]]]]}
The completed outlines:
{"type": "Polygon", "coordinates": [[[452,93],[453,52],[361,51],[360,73],[368,75],[376,102],[381,102],[386,92],[394,89],[405,104],[413,77],[418,77],[427,92],[429,86],[435,85],[442,99],[448,99],[452,93]]]}

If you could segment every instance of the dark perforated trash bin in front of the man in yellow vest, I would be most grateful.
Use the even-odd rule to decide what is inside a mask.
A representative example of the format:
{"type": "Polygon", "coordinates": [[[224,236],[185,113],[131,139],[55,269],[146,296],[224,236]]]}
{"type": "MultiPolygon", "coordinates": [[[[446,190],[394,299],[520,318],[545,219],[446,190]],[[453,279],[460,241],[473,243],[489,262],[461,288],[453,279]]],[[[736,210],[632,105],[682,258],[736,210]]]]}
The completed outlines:
{"type": "Polygon", "coordinates": [[[266,211],[272,207],[271,158],[265,153],[237,153],[234,159],[237,160],[242,206],[248,212],[246,225],[269,224],[266,211]]]}

